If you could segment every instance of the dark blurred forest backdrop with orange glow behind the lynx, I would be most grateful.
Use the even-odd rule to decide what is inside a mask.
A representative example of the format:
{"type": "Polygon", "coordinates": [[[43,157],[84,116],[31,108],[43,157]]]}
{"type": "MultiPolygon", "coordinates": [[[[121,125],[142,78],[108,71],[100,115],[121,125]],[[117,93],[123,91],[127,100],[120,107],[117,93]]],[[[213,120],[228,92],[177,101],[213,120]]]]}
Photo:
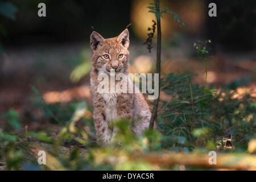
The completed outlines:
{"type": "MultiPolygon", "coordinates": [[[[12,0],[0,2],[0,113],[14,109],[22,121],[37,121],[36,88],[47,104],[85,100],[90,105],[89,37],[95,28],[104,38],[130,31],[131,73],[152,73],[156,46],[148,53],[143,42],[154,14],[148,0],[12,0]],[[46,17],[38,4],[46,3],[46,17]]],[[[255,1],[162,1],[189,28],[179,27],[171,15],[162,19],[162,71],[192,72],[204,84],[204,60],[193,44],[210,39],[207,84],[252,89],[256,97],[255,1]],[[217,17],[208,16],[210,2],[217,17]]],[[[154,41],[155,42],[155,41],[154,41]]],[[[162,94],[164,99],[164,94],[162,94]]],[[[57,111],[56,111],[57,112],[57,111]]],[[[0,125],[4,123],[0,118],[0,125]]]]}

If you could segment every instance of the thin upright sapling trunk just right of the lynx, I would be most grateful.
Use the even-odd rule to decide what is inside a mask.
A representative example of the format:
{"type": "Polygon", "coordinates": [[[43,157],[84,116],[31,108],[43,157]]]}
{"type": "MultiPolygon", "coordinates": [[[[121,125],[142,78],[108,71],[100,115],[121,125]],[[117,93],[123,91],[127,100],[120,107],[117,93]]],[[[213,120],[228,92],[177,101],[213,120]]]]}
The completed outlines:
{"type": "MultiPolygon", "coordinates": [[[[156,6],[156,14],[160,14],[160,3],[159,0],[155,0],[155,6],[156,6]]],[[[156,48],[156,73],[159,74],[159,96],[154,100],[154,107],[152,111],[152,115],[150,118],[150,129],[153,129],[154,121],[157,121],[157,113],[158,113],[158,105],[159,105],[159,98],[160,98],[160,67],[161,67],[161,23],[160,23],[160,17],[156,17],[156,26],[158,28],[158,37],[157,37],[157,48],[156,48]]]]}

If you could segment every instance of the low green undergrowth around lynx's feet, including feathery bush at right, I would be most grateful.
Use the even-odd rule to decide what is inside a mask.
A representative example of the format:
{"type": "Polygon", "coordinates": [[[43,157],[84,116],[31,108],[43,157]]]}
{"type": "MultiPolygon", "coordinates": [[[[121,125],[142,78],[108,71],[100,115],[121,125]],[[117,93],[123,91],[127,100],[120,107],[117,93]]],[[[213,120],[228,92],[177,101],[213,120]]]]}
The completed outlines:
{"type": "MultiPolygon", "coordinates": [[[[121,119],[111,126],[118,130],[113,145],[102,148],[95,142],[92,121],[82,114],[90,110],[86,102],[68,103],[66,107],[72,110],[57,135],[48,130],[25,131],[19,135],[1,130],[0,165],[17,170],[152,170],[152,164],[139,158],[130,160],[130,155],[137,152],[146,155],[152,151],[159,155],[166,151],[201,154],[225,148],[228,142],[235,148],[224,152],[246,152],[247,143],[255,138],[256,104],[253,98],[248,95],[233,98],[236,92],[229,90],[216,92],[210,88],[209,92],[204,92],[203,86],[192,84],[191,80],[189,74],[169,73],[162,78],[162,90],[170,100],[161,101],[158,130],[146,130],[141,137],[136,137],[129,121],[121,119]],[[80,128],[79,122],[84,122],[87,129],[80,128]],[[232,138],[226,137],[230,134],[232,138]],[[38,145],[51,155],[54,165],[37,164],[38,156],[31,156],[29,148],[38,145]]],[[[34,91],[38,102],[42,102],[37,106],[51,110],[38,90],[34,88],[34,91]]]]}

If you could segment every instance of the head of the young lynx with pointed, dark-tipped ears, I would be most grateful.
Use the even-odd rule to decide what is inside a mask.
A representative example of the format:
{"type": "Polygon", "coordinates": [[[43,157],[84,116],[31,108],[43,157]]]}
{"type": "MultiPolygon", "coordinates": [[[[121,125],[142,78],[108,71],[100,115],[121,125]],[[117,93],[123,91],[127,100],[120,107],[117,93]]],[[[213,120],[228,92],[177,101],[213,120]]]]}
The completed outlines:
{"type": "Polygon", "coordinates": [[[96,72],[127,72],[129,67],[129,31],[124,30],[119,36],[104,39],[93,31],[90,35],[90,47],[93,51],[92,65],[96,72]]]}

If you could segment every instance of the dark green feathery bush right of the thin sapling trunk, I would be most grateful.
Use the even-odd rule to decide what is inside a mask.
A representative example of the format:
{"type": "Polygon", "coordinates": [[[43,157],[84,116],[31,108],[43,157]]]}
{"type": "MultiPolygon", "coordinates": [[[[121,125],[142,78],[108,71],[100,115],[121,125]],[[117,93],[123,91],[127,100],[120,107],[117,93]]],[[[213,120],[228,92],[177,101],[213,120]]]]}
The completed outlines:
{"type": "Polygon", "coordinates": [[[219,93],[214,89],[204,92],[204,88],[192,84],[191,79],[188,74],[172,73],[162,79],[162,90],[170,96],[169,101],[162,101],[159,110],[164,148],[214,148],[215,142],[229,134],[233,135],[235,145],[240,143],[243,147],[249,138],[254,138],[256,107],[252,97],[245,94],[234,98],[236,92],[224,89],[219,93]],[[185,137],[185,142],[180,143],[176,136],[185,137]]]}

